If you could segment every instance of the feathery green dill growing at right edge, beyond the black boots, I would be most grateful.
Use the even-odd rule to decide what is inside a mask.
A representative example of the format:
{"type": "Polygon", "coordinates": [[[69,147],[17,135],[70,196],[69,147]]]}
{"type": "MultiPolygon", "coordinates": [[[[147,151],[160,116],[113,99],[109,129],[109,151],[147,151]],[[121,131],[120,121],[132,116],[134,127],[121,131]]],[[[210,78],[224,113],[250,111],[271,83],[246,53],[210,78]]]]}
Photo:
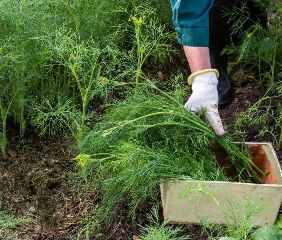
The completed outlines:
{"type": "Polygon", "coordinates": [[[259,133],[260,136],[270,133],[275,139],[275,145],[277,148],[280,148],[282,139],[281,111],[279,103],[273,105],[272,100],[282,97],[280,80],[282,35],[279,23],[282,7],[281,2],[278,0],[254,0],[253,2],[263,12],[268,14],[269,25],[266,27],[259,20],[253,20],[246,2],[241,1],[240,8],[226,9],[225,15],[229,16],[232,34],[237,34],[242,40],[238,46],[226,47],[223,53],[235,53],[237,55],[235,61],[228,63],[229,72],[231,72],[235,65],[247,65],[249,68],[257,68],[259,70],[260,84],[265,80],[269,80],[269,87],[266,89],[264,96],[254,104],[247,102],[247,110],[241,113],[241,116],[237,116],[236,121],[237,123],[241,122],[240,125],[244,123],[249,126],[262,126],[259,133]],[[250,25],[247,27],[244,26],[246,22],[250,22],[250,25]],[[272,96],[269,96],[271,91],[274,94],[272,93],[272,96]],[[276,119],[275,126],[272,129],[267,127],[268,121],[271,118],[276,119]],[[278,136],[275,136],[277,131],[279,131],[278,136]]]}

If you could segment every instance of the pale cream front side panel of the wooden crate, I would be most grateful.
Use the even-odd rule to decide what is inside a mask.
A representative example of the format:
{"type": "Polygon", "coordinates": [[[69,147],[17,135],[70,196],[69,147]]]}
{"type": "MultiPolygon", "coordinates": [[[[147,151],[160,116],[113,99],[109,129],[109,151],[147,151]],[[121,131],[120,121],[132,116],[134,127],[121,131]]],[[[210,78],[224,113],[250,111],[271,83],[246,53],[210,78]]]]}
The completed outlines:
{"type": "MultiPolygon", "coordinates": [[[[189,182],[171,182],[167,195],[166,219],[170,218],[171,222],[179,224],[194,223],[198,224],[198,216],[207,216],[211,223],[225,224],[219,207],[211,197],[203,197],[198,191],[192,193],[186,198],[180,198],[183,190],[187,188],[197,189],[199,181],[189,182]]],[[[203,183],[202,183],[203,184],[203,183]]],[[[251,222],[257,226],[262,224],[274,224],[277,212],[282,200],[282,187],[279,185],[262,185],[258,184],[240,184],[240,183],[224,183],[224,182],[206,182],[203,184],[208,192],[211,192],[221,207],[225,210],[229,205],[226,198],[236,201],[245,202],[245,199],[259,198],[267,201],[272,198],[272,203],[262,212],[254,215],[251,222]],[[260,218],[260,222],[257,222],[260,218]]],[[[236,210],[239,215],[243,216],[244,212],[241,208],[236,210]]]]}

